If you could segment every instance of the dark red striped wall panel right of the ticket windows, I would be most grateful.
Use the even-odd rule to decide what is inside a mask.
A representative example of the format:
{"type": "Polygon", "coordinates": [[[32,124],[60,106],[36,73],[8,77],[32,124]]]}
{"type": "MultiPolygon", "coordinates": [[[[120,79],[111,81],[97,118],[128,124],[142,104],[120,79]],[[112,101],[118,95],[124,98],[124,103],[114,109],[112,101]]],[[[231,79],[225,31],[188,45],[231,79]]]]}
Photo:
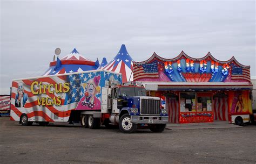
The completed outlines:
{"type": "Polygon", "coordinates": [[[215,120],[228,121],[228,97],[214,97],[213,113],[215,120]]]}

